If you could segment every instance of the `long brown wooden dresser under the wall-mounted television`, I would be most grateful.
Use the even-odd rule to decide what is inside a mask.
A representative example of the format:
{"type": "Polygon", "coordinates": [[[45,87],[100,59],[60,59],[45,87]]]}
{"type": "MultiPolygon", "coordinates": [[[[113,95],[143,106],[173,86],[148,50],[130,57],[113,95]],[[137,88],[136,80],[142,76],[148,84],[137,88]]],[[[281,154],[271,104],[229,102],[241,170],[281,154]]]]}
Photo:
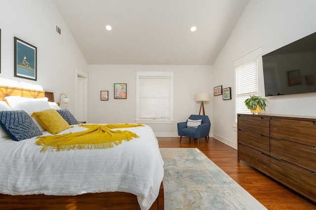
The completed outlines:
{"type": "Polygon", "coordinates": [[[284,115],[237,118],[240,160],[316,202],[316,119],[284,115]]]}

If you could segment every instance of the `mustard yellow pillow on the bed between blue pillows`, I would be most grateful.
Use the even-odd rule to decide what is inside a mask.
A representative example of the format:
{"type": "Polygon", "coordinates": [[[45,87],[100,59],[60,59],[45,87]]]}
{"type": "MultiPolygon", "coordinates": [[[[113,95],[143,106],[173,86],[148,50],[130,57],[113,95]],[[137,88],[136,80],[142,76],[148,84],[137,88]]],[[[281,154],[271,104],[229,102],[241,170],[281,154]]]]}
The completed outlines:
{"type": "Polygon", "coordinates": [[[33,112],[31,117],[35,117],[40,122],[40,125],[51,134],[57,134],[70,128],[68,122],[54,109],[33,112]]]}

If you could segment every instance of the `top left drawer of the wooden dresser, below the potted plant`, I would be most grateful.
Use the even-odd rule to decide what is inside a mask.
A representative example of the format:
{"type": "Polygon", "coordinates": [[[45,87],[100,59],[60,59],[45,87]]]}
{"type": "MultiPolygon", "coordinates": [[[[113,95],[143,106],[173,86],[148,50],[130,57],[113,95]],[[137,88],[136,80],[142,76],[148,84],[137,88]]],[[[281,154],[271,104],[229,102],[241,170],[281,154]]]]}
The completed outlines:
{"type": "Polygon", "coordinates": [[[270,118],[263,118],[257,115],[238,115],[238,129],[260,133],[265,136],[270,135],[270,118]]]}

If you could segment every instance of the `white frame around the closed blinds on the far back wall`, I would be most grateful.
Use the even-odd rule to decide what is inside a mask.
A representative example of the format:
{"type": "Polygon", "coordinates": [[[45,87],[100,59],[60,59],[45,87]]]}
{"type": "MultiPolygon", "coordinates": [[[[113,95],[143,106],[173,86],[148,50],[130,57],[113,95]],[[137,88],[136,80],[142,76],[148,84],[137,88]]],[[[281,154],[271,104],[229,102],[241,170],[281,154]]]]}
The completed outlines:
{"type": "Polygon", "coordinates": [[[137,123],[173,123],[173,72],[169,71],[136,71],[136,120],[137,123]],[[170,78],[170,118],[142,119],[140,113],[140,78],[141,77],[169,77],[170,78]]]}

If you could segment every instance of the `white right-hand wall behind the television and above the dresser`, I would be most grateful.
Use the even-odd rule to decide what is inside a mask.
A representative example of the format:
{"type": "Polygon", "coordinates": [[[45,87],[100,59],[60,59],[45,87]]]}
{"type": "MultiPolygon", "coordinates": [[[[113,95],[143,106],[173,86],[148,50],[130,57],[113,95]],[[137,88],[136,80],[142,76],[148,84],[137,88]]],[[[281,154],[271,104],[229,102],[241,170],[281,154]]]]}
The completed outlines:
{"type": "MultiPolygon", "coordinates": [[[[233,61],[258,47],[266,54],[315,32],[315,8],[316,0],[250,0],[214,63],[214,85],[232,87],[235,93],[233,61]]],[[[262,72],[259,79],[263,81],[262,72]]],[[[259,91],[264,91],[263,84],[259,91]]],[[[237,148],[234,98],[234,94],[230,101],[214,98],[213,136],[237,148]]],[[[266,113],[316,117],[316,93],[266,98],[270,102],[266,113]]]]}

